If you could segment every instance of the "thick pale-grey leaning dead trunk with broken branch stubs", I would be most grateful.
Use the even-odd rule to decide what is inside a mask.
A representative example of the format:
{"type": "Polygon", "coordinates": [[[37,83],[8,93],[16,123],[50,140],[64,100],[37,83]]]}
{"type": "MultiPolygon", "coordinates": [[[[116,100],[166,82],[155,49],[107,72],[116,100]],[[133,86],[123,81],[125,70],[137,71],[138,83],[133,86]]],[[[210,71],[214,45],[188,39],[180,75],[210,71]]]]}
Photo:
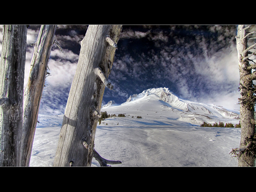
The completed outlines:
{"type": "Polygon", "coordinates": [[[89,26],[73,78],[54,166],[90,166],[101,109],[122,26],[89,26]]]}

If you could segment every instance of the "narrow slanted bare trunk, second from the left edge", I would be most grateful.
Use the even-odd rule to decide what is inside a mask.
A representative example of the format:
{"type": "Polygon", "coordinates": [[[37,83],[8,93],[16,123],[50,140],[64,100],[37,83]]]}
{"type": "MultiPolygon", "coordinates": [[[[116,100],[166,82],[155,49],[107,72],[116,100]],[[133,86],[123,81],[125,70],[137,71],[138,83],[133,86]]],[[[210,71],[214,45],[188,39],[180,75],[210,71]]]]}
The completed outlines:
{"type": "Polygon", "coordinates": [[[40,101],[56,27],[57,25],[41,26],[38,40],[33,44],[35,49],[31,59],[27,86],[24,90],[21,166],[28,166],[30,163],[40,101]]]}

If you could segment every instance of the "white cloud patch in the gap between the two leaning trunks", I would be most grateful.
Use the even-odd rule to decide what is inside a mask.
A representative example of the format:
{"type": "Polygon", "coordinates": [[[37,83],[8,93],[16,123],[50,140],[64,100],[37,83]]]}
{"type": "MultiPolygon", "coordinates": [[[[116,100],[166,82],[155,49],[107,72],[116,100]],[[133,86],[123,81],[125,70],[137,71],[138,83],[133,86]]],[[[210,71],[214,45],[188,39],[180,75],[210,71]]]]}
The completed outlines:
{"type": "Polygon", "coordinates": [[[73,77],[75,76],[76,66],[79,55],[70,50],[64,49],[64,53],[59,49],[51,52],[49,59],[48,72],[51,76],[46,78],[46,87],[41,100],[40,114],[63,114],[71,88],[73,77]],[[54,59],[51,59],[54,58],[54,59]],[[51,108],[51,112],[49,111],[51,108]]]}

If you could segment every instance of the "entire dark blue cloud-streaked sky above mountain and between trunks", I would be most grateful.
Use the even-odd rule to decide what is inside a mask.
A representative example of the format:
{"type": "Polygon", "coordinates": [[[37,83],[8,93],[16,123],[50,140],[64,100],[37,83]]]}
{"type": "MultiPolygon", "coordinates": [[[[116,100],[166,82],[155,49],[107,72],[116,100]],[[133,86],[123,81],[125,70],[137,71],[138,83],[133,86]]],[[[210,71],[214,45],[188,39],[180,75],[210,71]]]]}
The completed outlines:
{"type": "MultiPolygon", "coordinates": [[[[28,28],[26,84],[40,26],[28,28]]],[[[40,114],[64,114],[87,26],[58,26],[40,114]]],[[[2,44],[2,28],[0,28],[2,44]]],[[[145,89],[168,87],[177,97],[239,110],[236,26],[123,26],[102,103],[123,103],[145,89]]],[[[2,48],[2,45],[0,45],[2,48]]],[[[0,48],[0,51],[1,51],[0,48]]]]}

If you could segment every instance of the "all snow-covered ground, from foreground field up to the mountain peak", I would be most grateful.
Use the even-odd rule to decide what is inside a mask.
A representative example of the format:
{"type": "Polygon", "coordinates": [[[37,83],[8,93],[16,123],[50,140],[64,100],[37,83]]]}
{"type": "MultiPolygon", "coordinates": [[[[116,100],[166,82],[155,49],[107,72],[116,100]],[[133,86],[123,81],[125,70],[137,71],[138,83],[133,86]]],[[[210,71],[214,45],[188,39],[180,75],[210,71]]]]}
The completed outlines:
{"type": "MultiPolygon", "coordinates": [[[[238,114],[221,106],[185,101],[158,88],[101,111],[126,114],[97,126],[96,151],[122,161],[112,166],[237,166],[228,153],[239,146],[241,129],[199,127],[203,121],[239,122],[234,119],[238,114]]],[[[30,166],[53,165],[62,119],[63,115],[39,115],[30,166]]],[[[99,166],[94,158],[92,166],[99,166]]]]}

